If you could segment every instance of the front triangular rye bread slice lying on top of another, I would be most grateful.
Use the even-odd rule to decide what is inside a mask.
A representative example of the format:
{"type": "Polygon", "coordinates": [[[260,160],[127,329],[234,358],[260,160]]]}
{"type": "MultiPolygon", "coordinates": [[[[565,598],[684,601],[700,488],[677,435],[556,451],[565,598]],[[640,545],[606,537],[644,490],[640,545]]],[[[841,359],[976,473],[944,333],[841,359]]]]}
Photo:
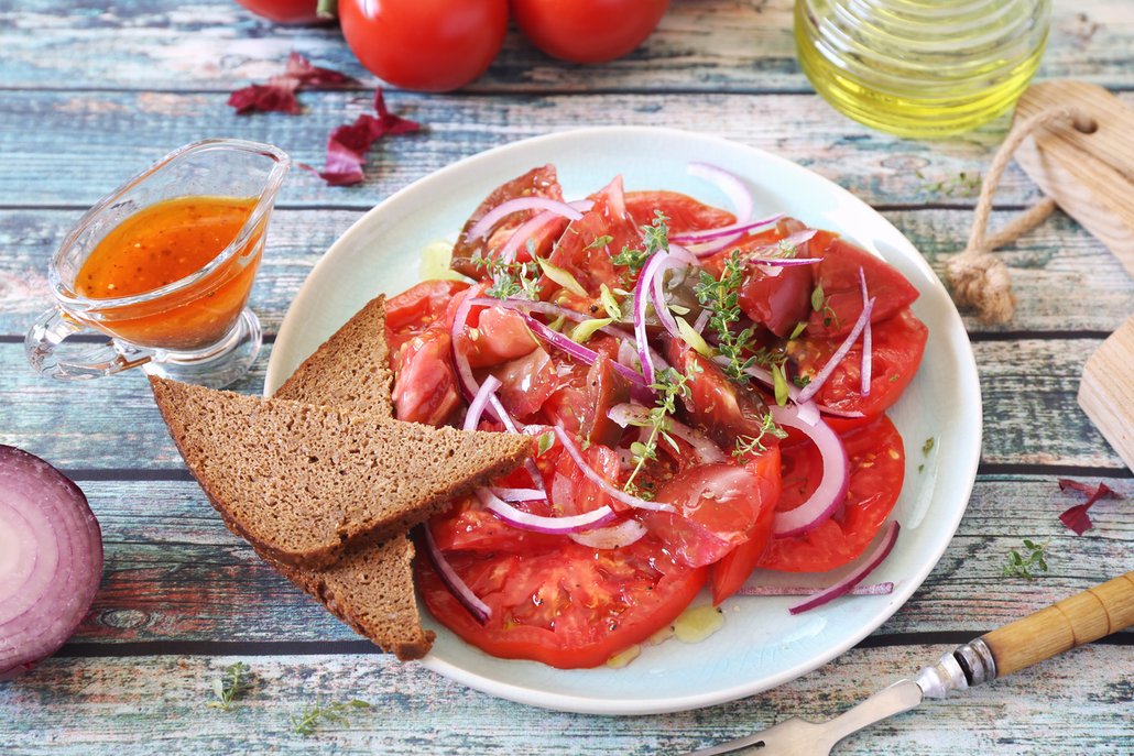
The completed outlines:
{"type": "Polygon", "coordinates": [[[151,376],[185,462],[237,535],[329,567],[518,467],[523,435],[382,421],[151,376]]]}

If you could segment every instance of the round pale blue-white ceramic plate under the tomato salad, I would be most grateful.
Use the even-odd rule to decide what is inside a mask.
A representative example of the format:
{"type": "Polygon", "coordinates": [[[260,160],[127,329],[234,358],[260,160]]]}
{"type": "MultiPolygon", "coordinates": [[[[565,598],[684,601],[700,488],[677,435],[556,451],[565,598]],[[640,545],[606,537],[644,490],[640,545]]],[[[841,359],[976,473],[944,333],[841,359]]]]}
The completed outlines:
{"type": "Polygon", "coordinates": [[[839,231],[880,254],[921,291],[913,308],[929,325],[929,345],[917,376],[890,414],[907,452],[906,485],[895,508],[903,530],[870,578],[894,580],[896,589],[797,617],[787,608],[798,598],[733,598],[716,635],[699,644],[670,640],[646,648],[619,670],[561,671],[493,659],[426,615],[438,639],[423,663],[443,676],[503,698],[594,714],[733,700],[814,670],[870,635],[921,585],[956,530],[976,474],[981,400],[972,349],[945,288],[897,229],[846,190],[782,158],[700,134],[637,127],[551,134],[474,155],[398,192],[359,219],[312,271],[280,328],[265,392],[370,298],[418,281],[422,248],[455,238],[473,209],[507,179],[550,162],[568,198],[585,196],[620,172],[628,190],[675,189],[727,207],[714,187],[686,173],[689,161],[727,167],[750,182],[758,212],[784,211],[839,231]],[[931,436],[936,443],[925,459],[922,444],[931,436]]]}

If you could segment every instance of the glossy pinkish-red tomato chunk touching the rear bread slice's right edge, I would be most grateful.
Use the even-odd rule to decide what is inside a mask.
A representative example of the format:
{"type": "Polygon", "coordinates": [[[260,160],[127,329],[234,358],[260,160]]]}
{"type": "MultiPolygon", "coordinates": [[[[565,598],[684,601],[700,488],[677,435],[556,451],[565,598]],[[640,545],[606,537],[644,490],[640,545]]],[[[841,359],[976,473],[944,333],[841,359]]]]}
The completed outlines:
{"type": "Polygon", "coordinates": [[[449,330],[428,329],[391,357],[393,411],[399,421],[443,425],[460,406],[449,330]]]}

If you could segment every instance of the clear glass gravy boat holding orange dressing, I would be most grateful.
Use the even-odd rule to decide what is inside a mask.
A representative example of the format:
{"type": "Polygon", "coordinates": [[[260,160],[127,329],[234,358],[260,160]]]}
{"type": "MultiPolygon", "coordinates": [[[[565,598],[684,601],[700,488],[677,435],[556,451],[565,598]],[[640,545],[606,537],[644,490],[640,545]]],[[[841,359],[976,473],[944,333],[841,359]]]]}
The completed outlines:
{"type": "MultiPolygon", "coordinates": [[[[268,221],[289,167],[288,155],[271,145],[205,139],[174,151],[103,197],[79,219],[51,258],[48,282],[56,304],[25,339],[32,366],[61,380],[100,377],[141,366],[146,373],[213,388],[244,375],[262,342],[260,321],[246,305],[268,221]],[[195,199],[203,205],[237,206],[246,213],[219,254],[149,290],[115,296],[111,284],[98,297],[83,291],[79,272],[101,243],[115,241],[147,209],[162,203],[192,205],[195,199]],[[116,233],[119,237],[108,239],[116,233]],[[84,331],[109,335],[110,341],[92,345],[84,331]],[[76,334],[83,335],[64,345],[76,334]]],[[[137,270],[141,274],[142,267],[137,270]]],[[[160,280],[161,271],[156,273],[160,280]]]]}

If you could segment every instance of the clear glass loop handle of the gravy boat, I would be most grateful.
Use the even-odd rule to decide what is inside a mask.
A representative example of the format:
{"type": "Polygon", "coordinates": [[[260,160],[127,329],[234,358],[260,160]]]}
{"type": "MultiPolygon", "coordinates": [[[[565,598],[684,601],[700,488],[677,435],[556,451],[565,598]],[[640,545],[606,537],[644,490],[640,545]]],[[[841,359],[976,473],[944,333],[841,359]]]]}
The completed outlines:
{"type": "Polygon", "coordinates": [[[27,331],[24,349],[27,362],[43,375],[62,381],[83,381],[113,375],[153,358],[153,352],[129,345],[107,341],[68,359],[56,355],[56,349],[68,338],[88,331],[83,323],[67,313],[52,308],[43,313],[27,331]]]}

